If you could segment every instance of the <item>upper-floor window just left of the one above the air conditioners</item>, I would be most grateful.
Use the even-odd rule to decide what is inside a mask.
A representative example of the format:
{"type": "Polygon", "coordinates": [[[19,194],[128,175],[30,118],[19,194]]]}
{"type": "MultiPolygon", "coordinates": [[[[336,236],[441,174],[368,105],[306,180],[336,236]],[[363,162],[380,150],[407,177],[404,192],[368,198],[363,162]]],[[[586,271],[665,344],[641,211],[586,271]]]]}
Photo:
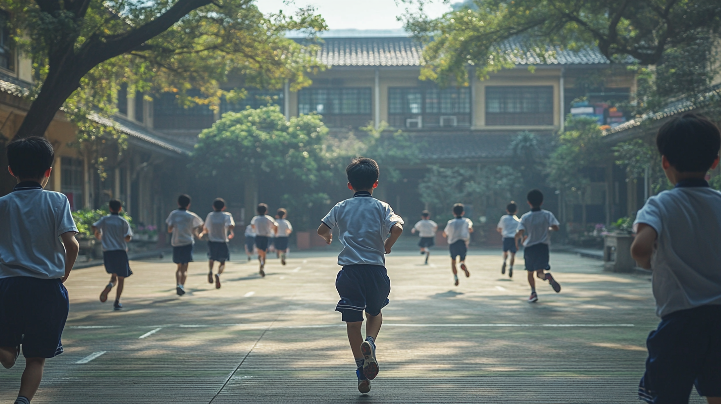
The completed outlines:
{"type": "Polygon", "coordinates": [[[327,126],[363,126],[371,115],[370,88],[302,89],[298,113],[319,113],[327,126]]]}

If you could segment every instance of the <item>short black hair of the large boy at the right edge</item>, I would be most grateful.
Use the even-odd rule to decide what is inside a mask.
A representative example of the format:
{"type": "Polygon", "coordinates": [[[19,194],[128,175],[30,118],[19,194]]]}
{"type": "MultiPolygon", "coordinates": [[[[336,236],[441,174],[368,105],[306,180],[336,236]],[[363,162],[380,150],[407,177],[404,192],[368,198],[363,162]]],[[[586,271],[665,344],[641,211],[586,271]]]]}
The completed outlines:
{"type": "Polygon", "coordinates": [[[719,155],[721,135],[709,118],[685,113],[661,126],[656,146],[679,172],[707,172],[719,155]]]}

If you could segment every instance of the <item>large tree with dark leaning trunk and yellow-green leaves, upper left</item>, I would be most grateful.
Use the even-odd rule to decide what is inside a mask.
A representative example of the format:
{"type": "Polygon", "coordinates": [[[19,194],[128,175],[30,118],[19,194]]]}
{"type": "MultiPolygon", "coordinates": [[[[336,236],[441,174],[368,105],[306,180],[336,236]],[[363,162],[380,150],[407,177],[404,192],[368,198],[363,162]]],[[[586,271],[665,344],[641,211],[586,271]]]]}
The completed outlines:
{"type": "Polygon", "coordinates": [[[265,17],[252,0],[0,0],[0,7],[12,12],[17,44],[34,58],[38,78],[19,137],[43,136],[68,97],[65,110],[79,120],[112,113],[123,83],[182,95],[195,87],[205,95],[195,102],[216,104],[229,74],[246,85],[303,86],[311,57],[284,33],[325,27],[312,9],[297,19],[265,17]]]}

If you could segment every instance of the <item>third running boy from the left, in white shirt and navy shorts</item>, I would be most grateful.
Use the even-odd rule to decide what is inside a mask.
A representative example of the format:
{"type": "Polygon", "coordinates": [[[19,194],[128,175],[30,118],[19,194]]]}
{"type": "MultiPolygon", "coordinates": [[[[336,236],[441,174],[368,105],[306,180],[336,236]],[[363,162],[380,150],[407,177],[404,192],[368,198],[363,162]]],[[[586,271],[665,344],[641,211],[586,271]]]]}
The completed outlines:
{"type": "Polygon", "coordinates": [[[165,223],[168,232],[173,234],[170,245],[173,246],[173,262],[177,264],[175,271],[175,293],[178,296],[185,294],[185,280],[187,279],[187,265],[193,262],[193,245],[195,237],[203,231],[203,219],[187,209],[190,208],[190,196],[178,196],[178,208],[170,212],[165,223]]]}

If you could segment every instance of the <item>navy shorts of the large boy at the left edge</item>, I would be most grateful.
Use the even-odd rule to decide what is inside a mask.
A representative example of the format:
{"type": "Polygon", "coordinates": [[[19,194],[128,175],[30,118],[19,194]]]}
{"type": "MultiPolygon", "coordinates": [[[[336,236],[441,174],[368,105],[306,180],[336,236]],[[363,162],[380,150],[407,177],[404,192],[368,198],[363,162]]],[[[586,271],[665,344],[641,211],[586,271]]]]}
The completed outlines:
{"type": "Polygon", "coordinates": [[[26,358],[62,354],[69,309],[68,289],[60,279],[0,279],[0,346],[21,345],[26,358]]]}

